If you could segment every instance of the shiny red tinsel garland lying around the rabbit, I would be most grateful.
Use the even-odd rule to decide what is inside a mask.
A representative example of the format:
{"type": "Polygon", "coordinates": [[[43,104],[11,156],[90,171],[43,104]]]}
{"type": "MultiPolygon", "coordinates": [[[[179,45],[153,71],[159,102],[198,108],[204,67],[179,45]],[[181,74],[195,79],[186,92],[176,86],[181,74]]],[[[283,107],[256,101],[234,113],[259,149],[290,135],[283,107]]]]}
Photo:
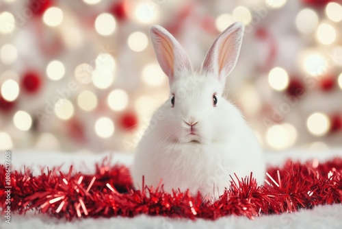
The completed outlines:
{"type": "MultiPolygon", "coordinates": [[[[285,163],[283,167],[267,169],[264,186],[257,186],[252,178],[232,184],[219,200],[203,202],[198,193],[166,193],[163,188],[133,189],[129,169],[123,165],[109,165],[105,158],[96,165],[94,174],[68,173],[59,167],[33,176],[29,169],[11,173],[11,212],[25,214],[36,209],[54,217],[133,217],[162,215],[189,219],[217,219],[226,215],[245,215],[252,219],[259,215],[294,212],[319,204],[342,201],[342,158],[319,164],[318,160],[285,163]]],[[[0,167],[0,207],[5,211],[5,167],[0,167]]]]}

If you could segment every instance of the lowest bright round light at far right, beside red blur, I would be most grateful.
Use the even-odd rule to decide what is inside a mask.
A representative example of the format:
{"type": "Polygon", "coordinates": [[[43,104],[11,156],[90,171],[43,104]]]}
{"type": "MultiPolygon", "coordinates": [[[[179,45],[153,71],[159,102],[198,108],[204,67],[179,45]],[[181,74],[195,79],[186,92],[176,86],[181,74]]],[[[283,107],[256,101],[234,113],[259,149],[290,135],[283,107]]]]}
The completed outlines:
{"type": "Polygon", "coordinates": [[[306,127],[311,134],[322,136],[326,134],[330,128],[330,120],[323,113],[313,113],[306,120],[306,127]]]}

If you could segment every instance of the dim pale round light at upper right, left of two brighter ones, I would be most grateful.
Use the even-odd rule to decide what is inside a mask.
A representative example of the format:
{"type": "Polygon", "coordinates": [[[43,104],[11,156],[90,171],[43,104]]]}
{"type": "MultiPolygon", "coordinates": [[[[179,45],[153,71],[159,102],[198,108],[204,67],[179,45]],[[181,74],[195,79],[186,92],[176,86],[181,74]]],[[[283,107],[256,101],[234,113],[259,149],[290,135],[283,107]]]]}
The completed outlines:
{"type": "Polygon", "coordinates": [[[315,31],[318,25],[318,15],[311,9],[301,10],[295,18],[295,26],[303,34],[310,34],[315,31]]]}

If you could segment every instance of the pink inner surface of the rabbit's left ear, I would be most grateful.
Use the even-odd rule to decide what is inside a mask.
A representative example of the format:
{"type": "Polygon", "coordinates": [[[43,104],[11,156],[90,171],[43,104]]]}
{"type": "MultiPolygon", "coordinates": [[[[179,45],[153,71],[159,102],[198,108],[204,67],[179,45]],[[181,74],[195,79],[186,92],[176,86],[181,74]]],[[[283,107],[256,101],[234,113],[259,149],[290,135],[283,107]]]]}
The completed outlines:
{"type": "Polygon", "coordinates": [[[160,55],[161,60],[165,61],[165,63],[162,63],[162,65],[165,64],[165,66],[161,66],[166,70],[168,69],[168,77],[173,77],[174,75],[174,53],[173,53],[173,44],[171,41],[166,38],[164,34],[161,32],[155,32],[159,38],[160,38],[160,55]]]}

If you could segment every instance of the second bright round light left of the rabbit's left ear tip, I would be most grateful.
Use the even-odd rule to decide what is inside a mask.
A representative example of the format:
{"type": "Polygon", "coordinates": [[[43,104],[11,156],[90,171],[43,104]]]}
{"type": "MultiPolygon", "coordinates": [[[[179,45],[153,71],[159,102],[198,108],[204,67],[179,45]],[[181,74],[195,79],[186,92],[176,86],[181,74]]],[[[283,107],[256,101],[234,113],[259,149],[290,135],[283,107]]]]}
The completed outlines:
{"type": "Polygon", "coordinates": [[[108,13],[103,13],[97,16],[95,20],[95,29],[98,34],[109,36],[116,29],[116,20],[114,16],[108,13]]]}

